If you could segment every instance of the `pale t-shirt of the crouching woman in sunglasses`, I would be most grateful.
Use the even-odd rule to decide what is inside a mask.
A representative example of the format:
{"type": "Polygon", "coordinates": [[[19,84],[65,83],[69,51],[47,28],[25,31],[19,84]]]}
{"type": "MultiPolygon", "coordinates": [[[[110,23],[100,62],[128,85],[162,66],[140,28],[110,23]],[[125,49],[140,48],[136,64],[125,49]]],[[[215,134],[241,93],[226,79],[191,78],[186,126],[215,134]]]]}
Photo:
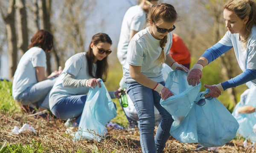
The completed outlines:
{"type": "MultiPolygon", "coordinates": [[[[83,95],[87,94],[89,88],[80,87],[80,88],[69,88],[63,87],[62,82],[66,73],[72,74],[75,76],[74,79],[91,79],[93,77],[89,76],[87,58],[85,52],[78,53],[67,59],[65,63],[65,68],[62,71],[61,75],[58,77],[55,82],[52,90],[49,95],[49,107],[52,107],[62,98],[73,95],[83,95]]],[[[97,65],[93,63],[93,75],[95,75],[97,65]]]]}

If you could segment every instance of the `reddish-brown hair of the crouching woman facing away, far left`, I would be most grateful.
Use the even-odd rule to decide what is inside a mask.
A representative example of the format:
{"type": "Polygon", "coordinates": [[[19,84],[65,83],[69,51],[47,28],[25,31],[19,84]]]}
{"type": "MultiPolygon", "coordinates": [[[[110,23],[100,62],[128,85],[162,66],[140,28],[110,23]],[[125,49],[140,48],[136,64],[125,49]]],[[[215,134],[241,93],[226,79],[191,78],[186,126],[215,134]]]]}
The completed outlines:
{"type": "Polygon", "coordinates": [[[31,38],[29,48],[40,47],[45,52],[50,52],[53,46],[53,36],[47,30],[39,30],[31,38]]]}

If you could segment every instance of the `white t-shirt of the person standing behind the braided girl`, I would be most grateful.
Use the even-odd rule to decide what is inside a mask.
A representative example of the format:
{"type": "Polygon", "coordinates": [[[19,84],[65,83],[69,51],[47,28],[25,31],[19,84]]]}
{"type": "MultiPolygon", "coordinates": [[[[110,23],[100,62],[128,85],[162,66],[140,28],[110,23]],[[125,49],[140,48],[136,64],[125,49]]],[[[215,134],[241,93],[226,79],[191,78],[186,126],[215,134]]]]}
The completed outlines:
{"type": "Polygon", "coordinates": [[[146,14],[140,6],[130,7],[123,18],[121,33],[117,46],[117,57],[119,62],[125,65],[126,54],[131,30],[141,31],[145,28],[146,14]]]}

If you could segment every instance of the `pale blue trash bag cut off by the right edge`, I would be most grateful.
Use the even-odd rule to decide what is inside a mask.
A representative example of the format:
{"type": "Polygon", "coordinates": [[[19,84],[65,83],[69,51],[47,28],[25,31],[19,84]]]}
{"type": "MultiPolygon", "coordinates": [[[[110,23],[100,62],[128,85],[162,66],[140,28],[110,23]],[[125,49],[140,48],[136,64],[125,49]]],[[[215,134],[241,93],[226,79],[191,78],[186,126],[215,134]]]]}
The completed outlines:
{"type": "Polygon", "coordinates": [[[238,112],[240,107],[248,105],[256,107],[256,86],[253,84],[251,84],[249,89],[241,94],[240,102],[236,104],[232,115],[236,118],[240,125],[237,133],[239,133],[245,139],[250,139],[251,142],[256,142],[256,134],[253,133],[253,126],[256,124],[256,113],[245,114],[238,112]]]}

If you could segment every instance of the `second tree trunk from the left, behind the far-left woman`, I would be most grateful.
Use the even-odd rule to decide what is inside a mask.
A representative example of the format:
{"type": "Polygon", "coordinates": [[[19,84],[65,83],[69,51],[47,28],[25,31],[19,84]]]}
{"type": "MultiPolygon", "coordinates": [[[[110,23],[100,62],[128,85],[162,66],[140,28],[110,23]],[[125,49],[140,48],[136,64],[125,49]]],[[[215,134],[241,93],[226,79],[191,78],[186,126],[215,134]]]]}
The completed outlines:
{"type": "Polygon", "coordinates": [[[27,15],[25,8],[25,0],[16,0],[15,4],[17,10],[17,24],[18,24],[18,48],[24,54],[28,50],[28,27],[27,27],[27,15]]]}

